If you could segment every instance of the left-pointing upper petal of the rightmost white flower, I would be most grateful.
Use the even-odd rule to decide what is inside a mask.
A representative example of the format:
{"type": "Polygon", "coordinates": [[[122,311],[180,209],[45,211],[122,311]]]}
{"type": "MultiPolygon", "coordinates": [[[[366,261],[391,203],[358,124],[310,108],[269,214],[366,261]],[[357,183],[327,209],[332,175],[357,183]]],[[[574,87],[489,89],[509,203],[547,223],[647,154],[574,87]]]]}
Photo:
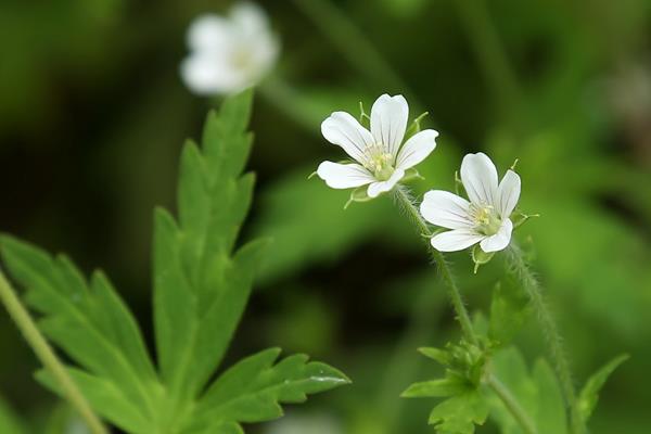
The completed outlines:
{"type": "Polygon", "coordinates": [[[471,228],[470,202],[448,191],[432,190],[425,193],[420,210],[425,220],[447,229],[471,228]]]}

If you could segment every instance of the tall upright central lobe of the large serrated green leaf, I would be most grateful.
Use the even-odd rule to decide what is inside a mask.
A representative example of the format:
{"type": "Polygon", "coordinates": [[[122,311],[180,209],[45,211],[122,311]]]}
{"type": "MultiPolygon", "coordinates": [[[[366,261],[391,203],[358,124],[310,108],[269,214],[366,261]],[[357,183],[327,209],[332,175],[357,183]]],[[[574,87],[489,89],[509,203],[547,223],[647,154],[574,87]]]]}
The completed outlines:
{"type": "Polygon", "coordinates": [[[208,115],[202,150],[188,142],[181,156],[179,222],[155,216],[156,348],[164,382],[180,397],[195,396],[219,366],[258,263],[251,246],[233,252],[253,191],[253,175],[241,175],[250,105],[244,92],[208,115]]]}

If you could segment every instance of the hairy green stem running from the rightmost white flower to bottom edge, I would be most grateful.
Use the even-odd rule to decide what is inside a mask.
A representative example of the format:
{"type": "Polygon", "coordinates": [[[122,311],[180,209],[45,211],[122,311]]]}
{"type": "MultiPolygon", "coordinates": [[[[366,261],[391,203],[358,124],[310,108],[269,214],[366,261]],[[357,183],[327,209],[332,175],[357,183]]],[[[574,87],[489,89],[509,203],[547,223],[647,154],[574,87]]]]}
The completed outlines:
{"type": "Polygon", "coordinates": [[[542,333],[545,334],[554,370],[561,382],[565,404],[570,409],[570,432],[573,434],[584,434],[585,426],[578,413],[578,403],[576,400],[576,392],[572,381],[570,362],[565,356],[563,339],[561,337],[559,328],[545,302],[540,284],[524,259],[520,247],[515,245],[515,243],[511,243],[511,247],[507,252],[509,265],[511,267],[510,271],[520,280],[522,286],[526,291],[538,318],[540,328],[542,329],[542,333]]]}

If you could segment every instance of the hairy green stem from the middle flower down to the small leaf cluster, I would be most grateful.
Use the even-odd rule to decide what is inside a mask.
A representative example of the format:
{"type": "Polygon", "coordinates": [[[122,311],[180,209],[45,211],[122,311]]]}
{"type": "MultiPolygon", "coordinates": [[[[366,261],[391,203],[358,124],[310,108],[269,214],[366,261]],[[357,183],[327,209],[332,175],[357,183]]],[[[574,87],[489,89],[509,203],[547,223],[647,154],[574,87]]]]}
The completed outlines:
{"type": "MultiPolygon", "coordinates": [[[[432,231],[430,230],[430,227],[420,215],[420,212],[413,204],[413,200],[411,199],[409,192],[405,187],[396,187],[395,199],[398,205],[405,210],[405,213],[407,213],[411,221],[416,224],[418,230],[423,235],[423,238],[427,240],[432,238],[432,231]]],[[[431,245],[429,245],[429,247],[432,254],[432,259],[434,259],[434,263],[438,268],[438,272],[441,273],[443,281],[448,290],[448,295],[450,297],[450,302],[452,303],[452,307],[457,312],[457,319],[461,324],[463,335],[465,336],[468,342],[476,345],[478,343],[478,340],[472,327],[472,322],[470,320],[470,316],[468,315],[468,310],[465,309],[465,305],[463,304],[461,291],[459,291],[459,286],[457,286],[457,283],[455,282],[452,271],[450,270],[448,264],[445,261],[443,254],[436,248],[433,248],[431,245]]]]}

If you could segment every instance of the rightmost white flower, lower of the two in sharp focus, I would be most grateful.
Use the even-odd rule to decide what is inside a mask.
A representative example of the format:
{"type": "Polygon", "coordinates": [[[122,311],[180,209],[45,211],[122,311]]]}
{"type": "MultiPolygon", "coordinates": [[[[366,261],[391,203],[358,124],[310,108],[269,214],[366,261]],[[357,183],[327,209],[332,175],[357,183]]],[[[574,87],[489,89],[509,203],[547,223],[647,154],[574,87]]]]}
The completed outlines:
{"type": "Polygon", "coordinates": [[[421,203],[425,220],[451,229],[432,238],[434,248],[456,252],[476,243],[486,253],[506,248],[513,230],[509,217],[520,199],[520,176],[508,170],[498,184],[495,165],[480,152],[463,157],[461,182],[470,202],[447,191],[432,190],[421,203]]]}

